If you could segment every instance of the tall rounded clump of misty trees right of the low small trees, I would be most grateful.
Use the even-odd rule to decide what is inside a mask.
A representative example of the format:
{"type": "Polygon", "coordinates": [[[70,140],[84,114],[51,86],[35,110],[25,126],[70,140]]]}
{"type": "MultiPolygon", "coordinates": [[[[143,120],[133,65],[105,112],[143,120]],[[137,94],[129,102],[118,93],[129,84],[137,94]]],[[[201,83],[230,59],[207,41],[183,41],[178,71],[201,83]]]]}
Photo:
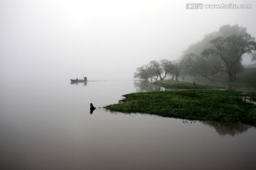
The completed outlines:
{"type": "Polygon", "coordinates": [[[225,25],[205,35],[203,40],[190,45],[183,52],[181,74],[183,77],[190,74],[213,80],[214,74],[227,72],[229,81],[233,81],[242,70],[241,61],[245,54],[256,61],[255,38],[247,34],[246,28],[225,25]],[[218,55],[220,50],[222,57],[218,55]]]}

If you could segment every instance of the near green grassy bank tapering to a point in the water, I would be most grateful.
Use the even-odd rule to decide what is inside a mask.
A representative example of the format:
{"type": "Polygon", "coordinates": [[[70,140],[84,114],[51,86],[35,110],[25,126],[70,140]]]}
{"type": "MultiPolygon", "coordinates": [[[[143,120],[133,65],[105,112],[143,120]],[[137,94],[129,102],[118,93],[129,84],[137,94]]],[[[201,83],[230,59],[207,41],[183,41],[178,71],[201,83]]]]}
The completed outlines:
{"type": "Polygon", "coordinates": [[[105,108],[122,113],[256,125],[255,93],[217,90],[153,91],[126,94],[124,97],[118,104],[105,108]]]}

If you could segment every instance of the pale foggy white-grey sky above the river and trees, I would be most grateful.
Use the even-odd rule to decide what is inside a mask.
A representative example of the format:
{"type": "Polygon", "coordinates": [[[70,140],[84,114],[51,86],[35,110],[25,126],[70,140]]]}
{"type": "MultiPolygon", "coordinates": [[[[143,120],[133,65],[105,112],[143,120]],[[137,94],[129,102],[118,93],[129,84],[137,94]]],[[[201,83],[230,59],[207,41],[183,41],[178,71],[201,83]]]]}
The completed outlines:
{"type": "Polygon", "coordinates": [[[225,24],[256,37],[255,16],[253,0],[1,0],[0,77],[133,79],[137,67],[178,60],[225,24]],[[190,2],[252,8],[186,9],[190,2]]]}

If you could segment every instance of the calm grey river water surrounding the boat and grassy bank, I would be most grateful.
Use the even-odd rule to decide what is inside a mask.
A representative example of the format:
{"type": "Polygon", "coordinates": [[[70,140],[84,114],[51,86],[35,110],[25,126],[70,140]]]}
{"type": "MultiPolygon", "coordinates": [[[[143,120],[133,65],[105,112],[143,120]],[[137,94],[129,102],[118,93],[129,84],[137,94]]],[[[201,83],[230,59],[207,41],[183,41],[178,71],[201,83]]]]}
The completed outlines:
{"type": "Polygon", "coordinates": [[[255,128],[102,108],[122,94],[163,90],[158,86],[68,79],[0,85],[0,169],[256,169],[255,128]]]}

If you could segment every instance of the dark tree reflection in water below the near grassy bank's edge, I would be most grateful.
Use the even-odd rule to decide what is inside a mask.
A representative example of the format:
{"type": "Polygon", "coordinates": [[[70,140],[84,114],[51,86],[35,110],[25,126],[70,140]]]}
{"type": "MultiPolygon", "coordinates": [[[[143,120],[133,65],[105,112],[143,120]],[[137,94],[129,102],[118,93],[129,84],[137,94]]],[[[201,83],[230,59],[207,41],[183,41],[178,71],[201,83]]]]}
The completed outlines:
{"type": "MultiPolygon", "coordinates": [[[[198,121],[183,120],[183,123],[197,123],[198,121]]],[[[250,125],[244,124],[230,124],[230,123],[218,123],[218,122],[202,122],[203,125],[208,125],[211,128],[214,128],[219,135],[239,135],[243,132],[246,132],[249,128],[252,128],[250,125]]]]}

